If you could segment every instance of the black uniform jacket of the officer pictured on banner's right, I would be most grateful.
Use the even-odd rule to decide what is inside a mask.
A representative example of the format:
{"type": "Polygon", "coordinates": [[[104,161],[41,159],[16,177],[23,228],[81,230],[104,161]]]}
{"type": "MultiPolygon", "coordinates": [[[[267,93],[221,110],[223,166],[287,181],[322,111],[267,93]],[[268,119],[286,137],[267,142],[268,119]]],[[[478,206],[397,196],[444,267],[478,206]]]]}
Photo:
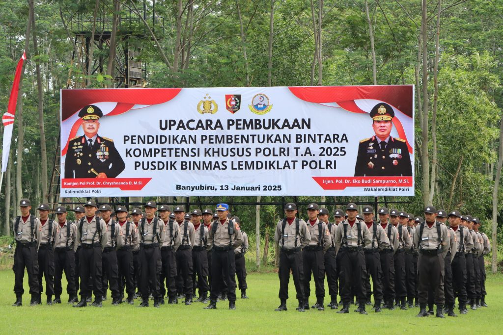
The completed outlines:
{"type": "Polygon", "coordinates": [[[412,165],[405,140],[389,137],[384,150],[376,136],[361,140],[355,176],[412,176],[412,165]]]}

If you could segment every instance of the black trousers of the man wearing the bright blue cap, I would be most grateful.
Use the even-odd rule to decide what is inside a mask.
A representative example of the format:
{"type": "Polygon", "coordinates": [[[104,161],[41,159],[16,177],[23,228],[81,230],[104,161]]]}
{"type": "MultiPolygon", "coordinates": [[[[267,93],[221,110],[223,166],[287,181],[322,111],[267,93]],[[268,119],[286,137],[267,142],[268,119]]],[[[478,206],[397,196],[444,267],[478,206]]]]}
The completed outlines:
{"type": "MultiPolygon", "coordinates": [[[[213,251],[211,255],[211,292],[210,299],[216,300],[222,292],[222,280],[227,283],[227,297],[229,301],[236,301],[236,283],[232,280],[236,275],[234,250],[213,251]]],[[[192,287],[191,287],[192,288],[192,287]]]]}

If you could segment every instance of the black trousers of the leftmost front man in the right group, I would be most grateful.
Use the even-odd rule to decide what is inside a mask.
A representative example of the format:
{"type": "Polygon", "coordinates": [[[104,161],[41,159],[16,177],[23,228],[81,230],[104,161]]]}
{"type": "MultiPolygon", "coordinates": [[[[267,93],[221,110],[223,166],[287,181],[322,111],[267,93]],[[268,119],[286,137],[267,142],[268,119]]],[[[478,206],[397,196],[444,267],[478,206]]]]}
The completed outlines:
{"type": "Polygon", "coordinates": [[[297,292],[297,299],[304,299],[304,267],[302,265],[302,251],[280,250],[280,264],[278,276],[280,278],[280,299],[288,299],[288,283],[290,282],[290,270],[292,271],[293,283],[297,292]]]}

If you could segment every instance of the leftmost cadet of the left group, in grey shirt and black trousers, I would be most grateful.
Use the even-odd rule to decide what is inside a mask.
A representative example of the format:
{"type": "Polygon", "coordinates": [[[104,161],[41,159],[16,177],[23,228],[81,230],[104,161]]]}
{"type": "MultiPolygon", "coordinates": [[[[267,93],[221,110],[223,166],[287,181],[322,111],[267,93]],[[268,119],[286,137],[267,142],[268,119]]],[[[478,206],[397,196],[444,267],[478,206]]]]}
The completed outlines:
{"type": "Polygon", "coordinates": [[[30,306],[38,305],[38,255],[40,246],[40,220],[31,215],[31,203],[28,199],[21,199],[19,202],[21,216],[14,219],[14,238],[16,239],[16,250],[14,252],[14,293],[16,302],[13,306],[22,305],[23,277],[28,272],[28,284],[30,286],[31,302],[30,306]]]}

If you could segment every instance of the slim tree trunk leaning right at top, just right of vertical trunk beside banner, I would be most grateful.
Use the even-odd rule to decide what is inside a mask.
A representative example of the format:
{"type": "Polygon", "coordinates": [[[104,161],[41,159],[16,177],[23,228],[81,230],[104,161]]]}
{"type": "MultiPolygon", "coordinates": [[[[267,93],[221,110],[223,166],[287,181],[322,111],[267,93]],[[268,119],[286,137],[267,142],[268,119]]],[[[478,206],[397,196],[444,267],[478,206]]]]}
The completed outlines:
{"type": "Polygon", "coordinates": [[[437,13],[437,31],[435,38],[435,64],[433,69],[433,117],[432,117],[432,142],[433,142],[433,152],[432,152],[432,177],[430,185],[430,194],[428,197],[428,204],[433,204],[433,196],[435,195],[435,183],[437,180],[437,105],[438,105],[438,92],[439,92],[439,82],[438,82],[438,69],[439,69],[439,36],[440,36],[440,14],[442,12],[442,0],[438,3],[438,13],[437,13]]]}

